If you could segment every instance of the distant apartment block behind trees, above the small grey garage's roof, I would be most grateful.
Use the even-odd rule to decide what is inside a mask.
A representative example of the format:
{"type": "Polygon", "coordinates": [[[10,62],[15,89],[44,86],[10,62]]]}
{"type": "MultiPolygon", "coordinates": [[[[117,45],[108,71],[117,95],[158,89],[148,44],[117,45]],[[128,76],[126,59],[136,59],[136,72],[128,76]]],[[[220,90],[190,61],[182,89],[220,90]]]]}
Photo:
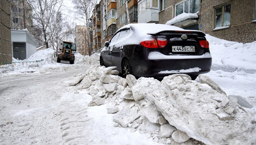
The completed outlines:
{"type": "Polygon", "coordinates": [[[33,32],[32,7],[27,0],[10,0],[11,29],[28,29],[33,32]]]}

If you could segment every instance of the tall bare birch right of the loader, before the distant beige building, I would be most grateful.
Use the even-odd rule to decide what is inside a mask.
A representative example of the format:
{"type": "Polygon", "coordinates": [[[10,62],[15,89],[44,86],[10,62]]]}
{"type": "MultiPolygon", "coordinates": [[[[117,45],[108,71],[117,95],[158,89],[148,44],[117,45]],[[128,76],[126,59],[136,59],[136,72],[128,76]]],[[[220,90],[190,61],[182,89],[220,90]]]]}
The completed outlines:
{"type": "Polygon", "coordinates": [[[76,8],[76,13],[79,15],[79,19],[83,23],[85,23],[85,26],[87,29],[86,42],[88,46],[87,51],[89,56],[92,55],[89,22],[90,22],[90,16],[92,16],[92,11],[96,2],[97,0],[73,0],[73,3],[75,4],[75,8],[76,8]]]}

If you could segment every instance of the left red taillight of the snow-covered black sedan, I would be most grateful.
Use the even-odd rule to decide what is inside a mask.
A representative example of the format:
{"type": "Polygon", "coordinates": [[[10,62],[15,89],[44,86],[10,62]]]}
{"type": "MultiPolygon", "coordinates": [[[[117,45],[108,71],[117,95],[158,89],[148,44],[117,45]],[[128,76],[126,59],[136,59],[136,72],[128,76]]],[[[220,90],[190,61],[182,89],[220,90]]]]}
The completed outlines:
{"type": "Polygon", "coordinates": [[[157,40],[147,40],[147,41],[142,41],[141,45],[147,48],[164,48],[167,44],[167,40],[166,39],[157,39],[157,40]]]}

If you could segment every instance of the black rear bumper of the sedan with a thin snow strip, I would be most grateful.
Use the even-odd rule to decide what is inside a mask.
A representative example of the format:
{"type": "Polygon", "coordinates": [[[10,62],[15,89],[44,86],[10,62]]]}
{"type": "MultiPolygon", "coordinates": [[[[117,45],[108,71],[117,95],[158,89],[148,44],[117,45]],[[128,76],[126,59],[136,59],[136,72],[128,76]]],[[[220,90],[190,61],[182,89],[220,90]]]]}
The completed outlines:
{"type": "Polygon", "coordinates": [[[133,60],[130,64],[136,77],[164,77],[172,74],[193,76],[208,73],[211,69],[211,61],[211,58],[133,60]]]}

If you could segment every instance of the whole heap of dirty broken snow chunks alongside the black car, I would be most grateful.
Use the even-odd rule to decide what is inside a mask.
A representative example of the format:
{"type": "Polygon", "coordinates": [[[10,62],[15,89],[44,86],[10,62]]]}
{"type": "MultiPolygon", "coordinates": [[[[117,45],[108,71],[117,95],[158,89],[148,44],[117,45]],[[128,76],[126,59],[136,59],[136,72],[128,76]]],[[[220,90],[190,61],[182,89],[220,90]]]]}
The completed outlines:
{"type": "Polygon", "coordinates": [[[144,77],[136,80],[132,75],[124,79],[113,69],[92,65],[69,85],[86,89],[93,96],[90,106],[106,105],[109,113],[117,112],[115,127],[129,127],[130,132],[146,133],[164,144],[256,141],[255,112],[237,104],[236,97],[220,93],[209,78],[201,75],[202,84],[184,74],[164,77],[162,82],[144,77]]]}

